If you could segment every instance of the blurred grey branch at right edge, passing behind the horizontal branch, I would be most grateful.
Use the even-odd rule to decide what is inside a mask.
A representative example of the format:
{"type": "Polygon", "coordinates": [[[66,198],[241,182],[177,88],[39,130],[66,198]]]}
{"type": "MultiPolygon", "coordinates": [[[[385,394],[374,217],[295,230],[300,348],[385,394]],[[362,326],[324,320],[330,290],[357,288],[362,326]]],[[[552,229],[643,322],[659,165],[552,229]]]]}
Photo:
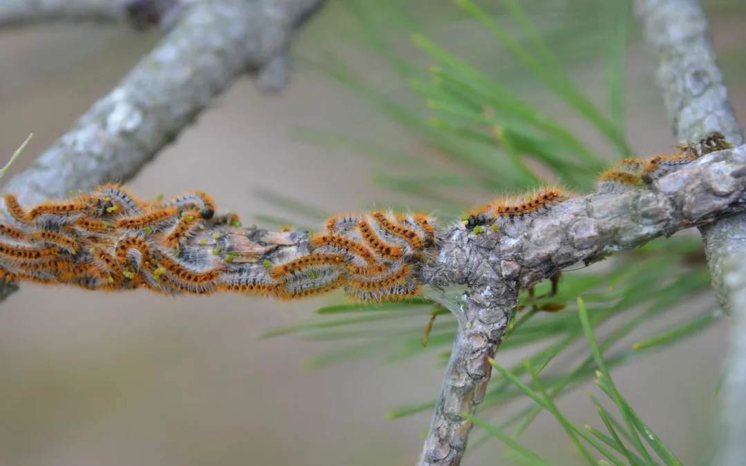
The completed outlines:
{"type": "MultiPolygon", "coordinates": [[[[696,0],[636,0],[645,42],[657,63],[661,90],[674,136],[679,142],[718,130],[736,144],[743,133],[728,101],[723,75],[715,60],[702,7],[696,0]]],[[[700,227],[712,288],[733,317],[729,373],[724,388],[724,421],[728,432],[723,465],[742,465],[746,458],[746,215],[730,215],[700,227]]]]}

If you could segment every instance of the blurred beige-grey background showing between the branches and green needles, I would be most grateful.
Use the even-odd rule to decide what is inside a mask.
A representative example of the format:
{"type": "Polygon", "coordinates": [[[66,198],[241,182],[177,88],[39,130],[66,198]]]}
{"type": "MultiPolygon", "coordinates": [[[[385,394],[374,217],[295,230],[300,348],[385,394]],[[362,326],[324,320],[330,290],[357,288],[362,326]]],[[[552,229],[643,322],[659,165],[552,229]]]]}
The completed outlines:
{"type": "MultiPolygon", "coordinates": [[[[313,19],[295,52],[313,56],[332,47],[325,31],[335,18],[325,12],[313,19]]],[[[742,20],[718,20],[718,48],[746,40],[742,20]]],[[[0,154],[34,133],[14,171],[67,130],[155,40],[79,25],[0,32],[0,154]]],[[[651,75],[644,51],[633,48],[629,60],[630,76],[651,75]]],[[[743,119],[744,81],[731,83],[730,92],[743,119]]],[[[290,132],[301,125],[374,132],[416,147],[389,125],[370,127],[372,112],[306,69],[297,69],[279,96],[260,95],[242,78],[129,184],[146,197],[204,189],[245,223],[270,208],[257,200],[257,188],[329,211],[360,208],[385,198],[366,184],[370,162],[293,142],[290,132]]],[[[642,154],[672,142],[657,101],[630,112],[628,133],[642,154]]],[[[0,465],[413,464],[430,414],[386,421],[383,412],[436,396],[442,371],[433,368],[434,354],[401,365],[370,358],[309,372],[304,358],[331,344],[257,339],[271,327],[314,318],[324,302],[23,286],[0,306],[0,465]]],[[[713,305],[702,296],[681,315],[713,305]]],[[[718,325],[616,373],[622,393],[692,464],[712,435],[712,388],[726,330],[718,325]]],[[[598,419],[582,390],[563,397],[560,407],[580,422],[598,419]]],[[[569,465],[571,444],[560,432],[542,414],[524,441],[569,465]]],[[[465,463],[502,464],[500,450],[490,444],[465,463]]]]}

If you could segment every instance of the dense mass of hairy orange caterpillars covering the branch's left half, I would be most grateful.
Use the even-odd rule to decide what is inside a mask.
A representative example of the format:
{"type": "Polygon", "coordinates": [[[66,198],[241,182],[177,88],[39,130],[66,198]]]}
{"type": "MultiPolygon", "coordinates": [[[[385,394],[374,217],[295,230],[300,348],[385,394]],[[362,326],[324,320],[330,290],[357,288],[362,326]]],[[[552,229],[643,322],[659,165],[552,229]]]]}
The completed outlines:
{"type": "Polygon", "coordinates": [[[14,195],[3,199],[0,275],[10,280],[280,299],[343,287],[354,300],[379,301],[419,295],[416,269],[436,253],[433,218],[419,213],[339,215],[327,221],[325,233],[299,235],[307,242],[301,250],[308,251],[299,255],[292,252],[298,248],[280,248],[290,243],[279,236],[274,243],[271,234],[257,236],[255,229],[248,230],[252,239],[242,236],[247,230],[236,215],[215,215],[204,192],[142,201],[109,184],[28,210],[14,195]],[[224,235],[233,238],[222,242],[225,249],[224,235]],[[207,242],[215,247],[195,247],[207,242]]]}

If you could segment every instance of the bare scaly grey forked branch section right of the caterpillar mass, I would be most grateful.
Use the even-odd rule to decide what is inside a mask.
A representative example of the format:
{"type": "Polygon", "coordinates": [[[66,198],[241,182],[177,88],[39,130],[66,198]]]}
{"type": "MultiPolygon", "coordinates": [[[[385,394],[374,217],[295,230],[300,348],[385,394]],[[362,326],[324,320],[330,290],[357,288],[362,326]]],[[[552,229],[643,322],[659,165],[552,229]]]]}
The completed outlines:
{"type": "Polygon", "coordinates": [[[460,464],[471,429],[463,413],[473,413],[483,399],[488,359],[505,332],[518,288],[527,289],[576,262],[742,212],[744,189],[746,145],[703,157],[647,189],[566,201],[504,233],[442,233],[439,262],[423,269],[423,280],[435,286],[466,284],[470,292],[466,306],[451,309],[460,331],[420,464],[460,464]]]}

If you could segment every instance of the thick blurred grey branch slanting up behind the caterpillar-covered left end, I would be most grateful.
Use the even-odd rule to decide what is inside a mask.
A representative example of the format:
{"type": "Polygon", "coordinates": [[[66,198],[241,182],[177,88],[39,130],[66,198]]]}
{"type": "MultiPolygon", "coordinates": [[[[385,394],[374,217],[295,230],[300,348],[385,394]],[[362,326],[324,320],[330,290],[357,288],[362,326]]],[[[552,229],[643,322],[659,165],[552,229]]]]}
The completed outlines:
{"type": "MultiPolygon", "coordinates": [[[[4,192],[33,205],[108,180],[128,180],[219,93],[258,69],[260,85],[286,81],[295,28],[323,0],[200,0],[172,31],[4,192]],[[280,63],[278,65],[278,63],[280,63]]],[[[0,300],[12,292],[0,289],[0,300]]]]}

